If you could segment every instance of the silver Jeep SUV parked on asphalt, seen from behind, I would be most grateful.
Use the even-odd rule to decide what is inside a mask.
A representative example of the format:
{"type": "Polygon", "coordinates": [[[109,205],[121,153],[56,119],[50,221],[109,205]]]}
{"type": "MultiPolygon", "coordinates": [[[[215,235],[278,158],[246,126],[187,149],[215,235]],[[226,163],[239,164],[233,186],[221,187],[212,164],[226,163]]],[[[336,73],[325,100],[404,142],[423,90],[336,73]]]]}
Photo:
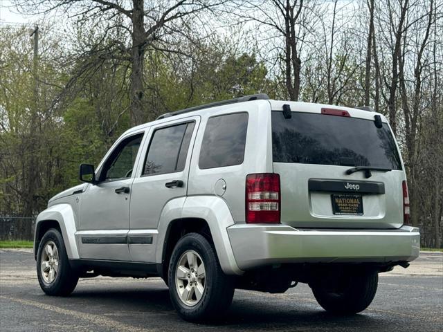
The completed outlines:
{"type": "Polygon", "coordinates": [[[118,138],[35,227],[39,284],[162,277],[186,320],[219,316],[235,288],[309,284],[320,306],[363,311],[378,273],[419,255],[386,118],[251,95],[160,116],[118,138]]]}

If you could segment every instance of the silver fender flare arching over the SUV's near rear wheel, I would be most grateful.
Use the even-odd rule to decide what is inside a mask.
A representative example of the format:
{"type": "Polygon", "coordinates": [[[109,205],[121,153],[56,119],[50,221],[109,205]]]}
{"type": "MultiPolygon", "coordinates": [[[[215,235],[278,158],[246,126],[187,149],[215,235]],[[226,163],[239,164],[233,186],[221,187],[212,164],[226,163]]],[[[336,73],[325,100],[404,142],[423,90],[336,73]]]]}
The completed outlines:
{"type": "Polygon", "coordinates": [[[165,241],[165,234],[170,222],[180,218],[199,218],[206,220],[210,233],[213,236],[215,251],[217,252],[221,269],[226,275],[242,275],[243,271],[237,266],[226,230],[226,228],[235,223],[228,205],[226,205],[223,199],[217,196],[188,196],[184,203],[180,199],[177,200],[174,208],[169,206],[168,214],[162,213],[159,221],[159,241],[157,242],[156,263],[162,262],[163,246],[161,246],[161,244],[165,241]]]}

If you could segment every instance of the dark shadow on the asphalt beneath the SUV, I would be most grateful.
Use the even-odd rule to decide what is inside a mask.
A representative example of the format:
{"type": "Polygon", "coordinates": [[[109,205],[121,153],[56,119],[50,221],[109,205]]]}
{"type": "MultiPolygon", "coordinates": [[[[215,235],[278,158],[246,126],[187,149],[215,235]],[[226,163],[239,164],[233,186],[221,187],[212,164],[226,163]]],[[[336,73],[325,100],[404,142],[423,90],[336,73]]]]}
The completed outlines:
{"type": "MultiPolygon", "coordinates": [[[[101,287],[100,287],[101,288],[101,287]]],[[[164,326],[174,329],[186,327],[186,324],[199,328],[206,326],[217,330],[256,331],[258,329],[331,329],[333,327],[359,326],[359,329],[374,329],[384,326],[383,320],[373,315],[351,315],[346,317],[331,315],[319,306],[307,302],[297,302],[282,297],[275,299],[266,294],[244,298],[235,295],[228,312],[219,319],[199,324],[181,320],[170,302],[166,286],[149,289],[97,289],[81,287],[71,299],[88,308],[105,308],[107,315],[119,317],[131,316],[130,324],[146,324],[150,329],[162,330],[164,326]],[[137,315],[138,314],[138,315],[137,315]],[[166,325],[165,325],[166,324],[166,325]]],[[[100,313],[100,312],[99,312],[100,313]]],[[[123,319],[123,318],[119,318],[123,319]]]]}

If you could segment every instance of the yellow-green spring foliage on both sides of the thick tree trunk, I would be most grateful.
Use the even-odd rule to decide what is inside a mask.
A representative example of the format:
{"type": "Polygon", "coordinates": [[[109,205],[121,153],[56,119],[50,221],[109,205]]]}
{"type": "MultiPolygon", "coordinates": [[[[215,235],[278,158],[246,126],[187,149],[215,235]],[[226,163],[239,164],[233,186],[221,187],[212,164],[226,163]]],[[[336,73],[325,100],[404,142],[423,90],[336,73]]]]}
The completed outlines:
{"type": "MultiPolygon", "coordinates": [[[[125,61],[65,54],[55,37],[42,32],[51,52],[39,56],[35,73],[28,32],[10,33],[14,38],[0,37],[5,50],[0,55],[0,211],[35,216],[51,196],[80,183],[80,163],[97,166],[129,128],[130,71],[125,61]]],[[[78,45],[93,43],[90,38],[79,36],[78,45]]],[[[107,44],[99,42],[103,49],[107,44]]],[[[220,43],[186,47],[183,52],[192,57],[147,52],[147,121],[206,102],[266,93],[273,84],[254,53],[237,55],[220,43]]]]}

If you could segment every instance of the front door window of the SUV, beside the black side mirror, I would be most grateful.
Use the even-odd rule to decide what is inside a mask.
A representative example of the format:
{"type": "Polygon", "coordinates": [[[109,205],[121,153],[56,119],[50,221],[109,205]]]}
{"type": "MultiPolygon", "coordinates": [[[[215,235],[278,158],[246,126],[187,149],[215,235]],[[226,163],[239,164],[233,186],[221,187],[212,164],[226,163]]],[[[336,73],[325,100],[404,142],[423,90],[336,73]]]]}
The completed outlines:
{"type": "Polygon", "coordinates": [[[142,138],[143,133],[132,136],[123,140],[123,142],[116,147],[105,163],[102,176],[100,176],[101,181],[130,178],[132,176],[132,169],[134,168],[142,138]]]}

